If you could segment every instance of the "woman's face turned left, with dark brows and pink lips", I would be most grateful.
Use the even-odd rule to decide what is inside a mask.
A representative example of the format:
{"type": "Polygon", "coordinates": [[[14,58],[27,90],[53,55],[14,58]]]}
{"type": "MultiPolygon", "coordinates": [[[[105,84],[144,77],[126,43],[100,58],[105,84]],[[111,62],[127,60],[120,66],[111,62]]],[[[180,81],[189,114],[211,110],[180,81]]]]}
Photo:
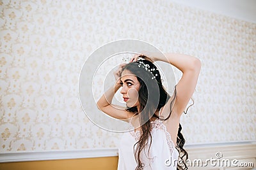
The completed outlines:
{"type": "Polygon", "coordinates": [[[122,90],[121,94],[123,95],[123,99],[126,103],[126,106],[131,108],[134,106],[139,106],[138,100],[138,91],[140,89],[140,82],[137,77],[132,74],[130,71],[125,69],[121,74],[121,84],[122,90]]]}

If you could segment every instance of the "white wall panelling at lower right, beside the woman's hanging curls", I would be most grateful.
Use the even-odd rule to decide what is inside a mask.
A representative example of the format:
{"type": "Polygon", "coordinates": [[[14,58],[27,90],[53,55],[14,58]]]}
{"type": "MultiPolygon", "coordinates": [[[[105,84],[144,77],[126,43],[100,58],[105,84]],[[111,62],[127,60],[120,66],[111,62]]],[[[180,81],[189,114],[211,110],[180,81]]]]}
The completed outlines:
{"type": "Polygon", "coordinates": [[[186,146],[186,149],[191,160],[189,170],[245,170],[256,167],[255,141],[196,144],[186,146]]]}

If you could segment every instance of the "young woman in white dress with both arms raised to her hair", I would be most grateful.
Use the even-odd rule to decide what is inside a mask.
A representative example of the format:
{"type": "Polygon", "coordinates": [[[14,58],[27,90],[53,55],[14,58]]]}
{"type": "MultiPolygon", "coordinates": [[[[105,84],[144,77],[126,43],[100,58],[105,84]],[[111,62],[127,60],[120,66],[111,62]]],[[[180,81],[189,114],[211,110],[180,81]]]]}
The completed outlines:
{"type": "Polygon", "coordinates": [[[134,55],[129,64],[115,71],[116,83],[97,102],[99,110],[134,127],[126,132],[118,148],[118,169],[187,169],[180,116],[195,91],[200,60],[176,53],[134,55]],[[168,62],[182,71],[170,96],[153,62],[168,62]],[[111,104],[116,91],[127,108],[111,104]],[[155,97],[156,96],[156,97],[155,97]],[[181,160],[181,161],[180,161],[181,160]]]}

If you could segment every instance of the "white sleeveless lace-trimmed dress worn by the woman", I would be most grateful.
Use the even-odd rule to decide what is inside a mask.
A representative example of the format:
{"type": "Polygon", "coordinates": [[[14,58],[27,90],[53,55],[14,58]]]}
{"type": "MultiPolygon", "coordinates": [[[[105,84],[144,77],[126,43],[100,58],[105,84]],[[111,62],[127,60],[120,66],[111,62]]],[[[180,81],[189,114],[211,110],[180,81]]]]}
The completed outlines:
{"type": "MultiPolygon", "coordinates": [[[[152,125],[152,144],[148,153],[148,145],[141,152],[141,162],[145,170],[176,170],[179,152],[175,148],[170,133],[161,120],[150,122],[152,125]]],[[[129,122],[131,125],[131,121],[129,122]]],[[[125,132],[118,147],[118,170],[134,170],[137,166],[133,146],[140,138],[140,131],[125,132]]]]}

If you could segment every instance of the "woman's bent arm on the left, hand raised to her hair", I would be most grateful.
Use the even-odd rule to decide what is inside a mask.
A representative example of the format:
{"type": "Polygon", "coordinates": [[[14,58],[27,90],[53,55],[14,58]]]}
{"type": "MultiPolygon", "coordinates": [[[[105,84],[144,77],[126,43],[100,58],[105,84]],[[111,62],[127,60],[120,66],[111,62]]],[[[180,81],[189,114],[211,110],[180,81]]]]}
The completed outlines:
{"type": "Polygon", "coordinates": [[[118,70],[115,71],[114,75],[116,78],[116,83],[113,87],[109,88],[104,94],[100,97],[99,101],[97,102],[97,107],[99,110],[103,111],[104,113],[108,114],[111,117],[118,118],[127,122],[129,118],[129,111],[126,111],[124,107],[118,106],[115,104],[111,104],[113,97],[118,89],[120,89],[120,73],[121,69],[124,64],[120,64],[118,70]]]}

